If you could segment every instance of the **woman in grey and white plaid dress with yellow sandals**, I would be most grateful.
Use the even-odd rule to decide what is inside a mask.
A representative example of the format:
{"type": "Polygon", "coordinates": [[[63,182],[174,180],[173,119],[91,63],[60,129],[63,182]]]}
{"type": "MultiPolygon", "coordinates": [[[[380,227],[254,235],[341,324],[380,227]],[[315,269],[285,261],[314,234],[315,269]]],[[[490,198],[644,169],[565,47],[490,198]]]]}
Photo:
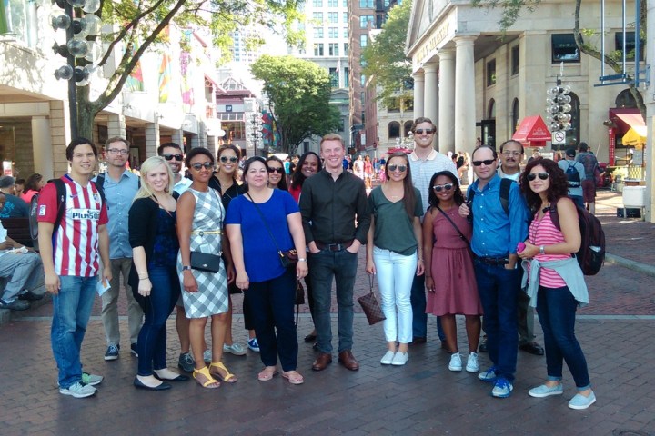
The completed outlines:
{"type": "Polygon", "coordinates": [[[216,190],[209,188],[214,172],[214,156],[205,148],[193,148],[186,154],[186,167],[193,183],[177,202],[177,234],[180,252],[177,272],[184,292],[186,317],[191,320],[189,338],[196,369],[193,376],[204,388],[217,388],[221,381],[234,383],[237,377],[221,362],[227,324],[227,282],[234,280],[231,256],[226,251],[228,267],[220,263],[218,272],[191,267],[191,252],[221,254],[227,237],[223,233],[225,209],[216,190]],[[203,342],[207,319],[211,317],[211,364],[207,368],[203,342]]]}

